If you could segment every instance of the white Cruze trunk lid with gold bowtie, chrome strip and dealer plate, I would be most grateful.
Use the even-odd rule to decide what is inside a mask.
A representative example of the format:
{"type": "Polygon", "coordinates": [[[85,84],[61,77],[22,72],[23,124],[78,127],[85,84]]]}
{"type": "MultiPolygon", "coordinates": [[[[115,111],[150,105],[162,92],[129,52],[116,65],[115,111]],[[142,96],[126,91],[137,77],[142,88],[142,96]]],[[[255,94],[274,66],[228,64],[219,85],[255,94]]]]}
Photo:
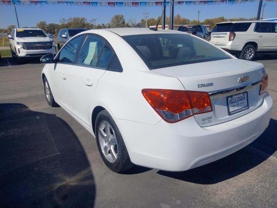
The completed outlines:
{"type": "Polygon", "coordinates": [[[264,75],[260,63],[229,59],[152,71],[178,78],[187,91],[209,93],[213,111],[194,115],[196,122],[203,127],[243,116],[258,108],[263,101],[263,96],[259,96],[264,75]]]}

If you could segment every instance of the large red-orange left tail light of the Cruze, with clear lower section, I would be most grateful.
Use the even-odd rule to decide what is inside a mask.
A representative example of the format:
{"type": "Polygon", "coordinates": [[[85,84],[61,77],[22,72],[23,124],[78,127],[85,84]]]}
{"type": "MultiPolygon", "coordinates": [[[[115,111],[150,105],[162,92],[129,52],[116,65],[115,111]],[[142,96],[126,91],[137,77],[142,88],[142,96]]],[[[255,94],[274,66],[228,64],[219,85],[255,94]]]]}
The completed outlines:
{"type": "Polygon", "coordinates": [[[194,114],[213,111],[207,92],[143,89],[152,108],[168,123],[184,120],[194,114]]]}

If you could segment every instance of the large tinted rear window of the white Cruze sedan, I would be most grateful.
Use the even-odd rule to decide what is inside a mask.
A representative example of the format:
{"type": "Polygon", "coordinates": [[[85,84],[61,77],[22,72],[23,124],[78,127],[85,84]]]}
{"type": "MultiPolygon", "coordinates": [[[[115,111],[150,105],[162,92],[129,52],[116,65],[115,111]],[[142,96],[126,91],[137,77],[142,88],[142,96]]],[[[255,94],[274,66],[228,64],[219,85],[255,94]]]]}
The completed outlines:
{"type": "Polygon", "coordinates": [[[150,70],[231,58],[205,40],[189,34],[157,33],[122,38],[150,70]]]}

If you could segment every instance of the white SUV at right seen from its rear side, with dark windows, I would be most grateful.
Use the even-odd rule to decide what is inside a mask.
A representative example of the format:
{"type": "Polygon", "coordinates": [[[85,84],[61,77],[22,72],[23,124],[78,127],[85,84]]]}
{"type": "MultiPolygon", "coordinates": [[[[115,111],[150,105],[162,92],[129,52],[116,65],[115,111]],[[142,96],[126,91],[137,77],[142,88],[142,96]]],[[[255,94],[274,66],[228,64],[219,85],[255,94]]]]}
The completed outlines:
{"type": "Polygon", "coordinates": [[[259,20],[217,23],[211,32],[210,42],[249,61],[255,54],[276,54],[277,22],[259,20]]]}

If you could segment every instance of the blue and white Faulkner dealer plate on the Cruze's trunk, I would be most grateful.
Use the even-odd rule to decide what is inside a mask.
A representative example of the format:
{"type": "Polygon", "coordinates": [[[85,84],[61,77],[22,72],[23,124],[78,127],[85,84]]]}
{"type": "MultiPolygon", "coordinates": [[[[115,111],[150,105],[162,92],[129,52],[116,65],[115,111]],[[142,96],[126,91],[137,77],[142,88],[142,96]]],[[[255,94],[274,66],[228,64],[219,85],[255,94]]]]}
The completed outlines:
{"type": "Polygon", "coordinates": [[[242,92],[227,97],[228,115],[234,115],[249,108],[248,94],[242,92]]]}

